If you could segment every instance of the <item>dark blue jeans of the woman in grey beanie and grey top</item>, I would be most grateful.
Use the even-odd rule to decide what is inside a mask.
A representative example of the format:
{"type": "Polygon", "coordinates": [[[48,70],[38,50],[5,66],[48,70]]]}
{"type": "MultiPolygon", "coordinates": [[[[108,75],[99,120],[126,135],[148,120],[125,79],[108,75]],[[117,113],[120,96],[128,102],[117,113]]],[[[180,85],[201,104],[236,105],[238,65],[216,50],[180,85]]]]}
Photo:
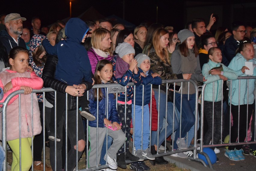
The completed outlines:
{"type": "MultiPolygon", "coordinates": [[[[195,97],[196,97],[195,94],[191,94],[191,95],[183,94],[182,108],[181,108],[181,94],[175,93],[175,105],[178,108],[178,111],[181,113],[181,128],[178,127],[175,133],[173,149],[178,149],[178,145],[176,144],[176,141],[179,138],[180,130],[181,130],[181,138],[184,138],[186,137],[187,132],[189,132],[192,126],[195,124],[195,120],[196,120],[194,115],[195,103],[196,103],[195,97]],[[188,96],[189,96],[189,100],[187,100],[188,96]],[[180,110],[180,108],[182,110],[180,110]]],[[[193,134],[192,137],[194,137],[194,129],[190,131],[190,136],[189,136],[190,138],[191,138],[191,134],[193,134]]],[[[189,142],[189,140],[187,141],[189,142]]]]}

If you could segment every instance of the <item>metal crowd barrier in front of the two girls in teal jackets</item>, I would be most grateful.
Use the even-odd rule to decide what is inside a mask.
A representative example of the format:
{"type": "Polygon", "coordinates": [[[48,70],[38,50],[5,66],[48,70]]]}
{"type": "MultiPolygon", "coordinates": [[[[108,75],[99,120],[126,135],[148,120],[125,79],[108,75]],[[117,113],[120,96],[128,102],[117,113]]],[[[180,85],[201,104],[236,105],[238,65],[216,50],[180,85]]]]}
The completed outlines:
{"type": "MultiPolygon", "coordinates": [[[[246,95],[246,97],[247,97],[247,102],[248,102],[248,89],[250,88],[248,85],[248,81],[250,80],[250,79],[256,79],[256,76],[239,76],[238,78],[237,78],[238,80],[239,80],[239,108],[240,108],[240,82],[241,82],[241,80],[243,80],[243,79],[246,79],[247,81],[246,81],[246,84],[247,84],[247,95],[246,95]]],[[[224,81],[222,80],[222,87],[221,87],[221,94],[222,94],[222,98],[221,98],[221,101],[223,102],[223,92],[225,91],[224,89],[223,89],[223,83],[224,83],[224,81]]],[[[215,87],[216,85],[214,84],[214,82],[213,82],[213,87],[215,87]]],[[[224,121],[224,118],[223,118],[223,103],[221,103],[221,139],[220,139],[220,141],[219,141],[219,143],[218,144],[214,144],[213,143],[213,141],[212,141],[212,143],[210,143],[210,144],[203,144],[203,131],[204,131],[204,93],[205,93],[205,88],[206,88],[206,84],[204,84],[203,86],[202,86],[202,94],[201,94],[201,115],[200,115],[200,119],[201,119],[201,121],[200,121],[200,126],[201,126],[201,128],[200,128],[200,139],[198,139],[198,141],[200,141],[200,151],[198,151],[198,153],[200,153],[200,154],[202,154],[202,155],[204,155],[205,157],[206,157],[206,160],[208,161],[208,164],[209,164],[209,167],[210,168],[212,168],[212,164],[211,164],[211,162],[210,162],[210,159],[209,159],[209,157],[207,156],[207,154],[206,153],[204,153],[203,152],[203,148],[206,148],[206,147],[208,147],[208,148],[213,148],[213,147],[224,147],[224,146],[237,146],[237,145],[250,145],[250,144],[256,144],[256,137],[255,137],[255,134],[256,134],[256,131],[255,131],[255,128],[256,128],[256,119],[254,119],[254,120],[252,120],[251,122],[254,124],[254,140],[251,140],[250,142],[248,142],[248,140],[247,140],[247,131],[248,130],[246,130],[246,138],[245,138],[245,142],[239,142],[239,128],[238,128],[238,142],[236,142],[236,143],[230,143],[230,137],[231,136],[229,136],[229,143],[224,143],[224,140],[223,140],[223,137],[222,137],[222,134],[223,134],[223,121],[224,121]]],[[[232,95],[232,90],[231,90],[231,88],[232,88],[232,80],[230,80],[230,83],[229,83],[229,95],[232,95]]],[[[256,92],[256,86],[255,86],[255,83],[254,83],[254,116],[256,116],[256,106],[255,106],[255,92],[256,92]]],[[[214,97],[214,93],[215,93],[215,88],[213,88],[213,92],[212,92],[212,94],[213,94],[213,97],[214,97]]],[[[226,99],[227,101],[228,101],[228,98],[226,99]]],[[[231,103],[232,101],[230,101],[230,103],[231,103]]],[[[213,140],[213,138],[214,138],[214,131],[213,131],[213,129],[214,129],[214,104],[215,104],[215,102],[213,101],[212,102],[213,103],[213,113],[212,113],[212,128],[208,128],[208,129],[212,129],[212,140],[213,140]]],[[[230,110],[229,110],[229,113],[226,113],[226,115],[229,115],[229,135],[231,134],[231,115],[232,115],[232,113],[231,113],[231,105],[230,106],[227,106],[230,110]]],[[[238,118],[239,117],[245,117],[245,116],[241,116],[240,115],[240,111],[238,112],[239,114],[238,114],[238,118]]],[[[253,116],[253,113],[252,113],[252,115],[251,116],[253,116]]],[[[250,124],[250,123],[248,123],[248,103],[247,103],[247,111],[246,111],[246,127],[248,128],[248,125],[250,124]]],[[[254,117],[255,118],[255,117],[254,117]]],[[[238,119],[239,120],[239,119],[238,119]]],[[[238,121],[238,123],[239,123],[239,121],[238,121]]]]}

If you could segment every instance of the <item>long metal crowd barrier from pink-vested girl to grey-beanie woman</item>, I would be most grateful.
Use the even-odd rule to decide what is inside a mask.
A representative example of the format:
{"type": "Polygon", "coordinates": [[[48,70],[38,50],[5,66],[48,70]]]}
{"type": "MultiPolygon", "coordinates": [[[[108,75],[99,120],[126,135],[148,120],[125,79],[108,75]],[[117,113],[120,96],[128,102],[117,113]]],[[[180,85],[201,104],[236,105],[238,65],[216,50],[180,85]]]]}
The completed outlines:
{"type": "MultiPolygon", "coordinates": [[[[193,147],[189,147],[188,149],[181,149],[181,150],[175,150],[174,151],[174,149],[173,149],[173,145],[174,145],[174,143],[176,143],[176,142],[174,142],[174,136],[172,136],[172,143],[171,143],[171,145],[172,145],[172,150],[170,150],[169,152],[168,151],[166,151],[166,148],[165,148],[165,150],[164,150],[164,152],[159,152],[158,151],[158,149],[157,149],[157,154],[155,154],[154,155],[154,157],[161,157],[161,156],[167,156],[167,155],[171,155],[171,154],[175,154],[175,153],[179,153],[179,152],[187,152],[187,151],[193,151],[193,156],[192,157],[188,157],[188,159],[190,159],[190,160],[194,160],[194,161],[199,161],[199,162],[201,162],[204,166],[206,166],[206,164],[205,164],[205,162],[203,161],[203,160],[201,160],[201,159],[198,159],[198,158],[196,158],[196,155],[197,155],[197,127],[198,127],[198,117],[197,117],[197,115],[198,115],[198,86],[197,86],[197,83],[196,82],[194,82],[193,80],[184,80],[184,79],[175,79],[175,80],[163,80],[162,81],[162,83],[163,84],[166,84],[166,113],[165,113],[165,118],[167,118],[168,117],[168,115],[167,115],[167,93],[168,93],[168,85],[169,84],[171,84],[171,83],[174,83],[174,85],[176,84],[176,83],[178,83],[178,82],[181,82],[181,86],[182,86],[182,84],[183,84],[183,82],[189,82],[188,84],[192,84],[193,86],[194,86],[194,88],[195,88],[195,124],[194,124],[194,146],[193,147]]],[[[127,86],[131,86],[131,85],[133,85],[133,83],[129,83],[127,86]]],[[[119,85],[119,84],[102,84],[102,85],[94,85],[93,86],[93,88],[97,88],[97,89],[99,89],[99,88],[106,88],[106,92],[109,94],[109,93],[116,93],[116,95],[117,95],[117,93],[120,93],[120,92],[125,92],[125,95],[126,95],[126,88],[127,88],[127,86],[121,86],[121,85],[119,85]]],[[[175,87],[175,86],[174,86],[175,87]]],[[[144,90],[144,85],[143,85],[143,90],[144,90]]],[[[175,89],[174,89],[175,90],[175,89]]],[[[43,92],[43,95],[44,95],[44,102],[43,102],[43,105],[44,105],[44,107],[43,107],[43,125],[42,125],[42,130],[43,130],[43,136],[45,135],[45,134],[47,134],[46,132],[45,132],[45,125],[46,125],[46,122],[45,122],[45,117],[46,117],[46,115],[50,115],[50,113],[45,113],[45,93],[46,92],[50,92],[50,91],[54,91],[52,88],[42,88],[41,90],[33,90],[32,91],[32,93],[37,93],[37,92],[43,92]]],[[[136,86],[134,86],[134,98],[136,97],[136,93],[135,93],[135,91],[136,91],[136,86]]],[[[55,92],[55,97],[56,97],[56,91],[54,91],[55,92]]],[[[158,97],[155,97],[155,98],[158,98],[159,100],[160,100],[160,86],[158,87],[158,94],[159,94],[159,96],[158,97]]],[[[188,92],[189,92],[189,89],[188,89],[188,92]]],[[[15,92],[13,92],[13,93],[11,93],[7,98],[6,98],[6,100],[3,102],[3,103],[0,103],[0,104],[3,104],[3,107],[2,107],[2,146],[3,146],[3,149],[5,150],[5,152],[7,152],[7,142],[6,142],[6,113],[8,112],[7,111],[7,104],[8,104],[8,102],[11,100],[11,98],[13,98],[15,95],[19,95],[19,101],[20,101],[20,94],[22,94],[22,93],[24,93],[24,90],[18,90],[18,91],[15,91],[15,92]]],[[[175,92],[174,93],[174,99],[175,99],[175,94],[176,94],[177,92],[175,92]]],[[[181,90],[181,94],[182,94],[182,90],[181,90]]],[[[98,94],[98,90],[97,90],[97,95],[99,95],[98,94]]],[[[108,96],[108,95],[107,95],[108,96]]],[[[33,97],[32,97],[32,94],[31,94],[31,99],[32,99],[33,97]]],[[[88,97],[87,98],[89,98],[89,95],[88,95],[88,97]]],[[[116,96],[116,98],[117,98],[117,96],[116,96]]],[[[158,100],[158,128],[157,128],[157,131],[158,131],[158,136],[157,136],[157,143],[158,143],[158,141],[159,141],[159,132],[160,132],[160,130],[159,130],[159,122],[163,122],[163,121],[159,121],[159,103],[160,103],[160,101],[158,100]]],[[[181,100],[182,100],[182,95],[181,95],[181,100]]],[[[144,101],[144,91],[143,91],[143,94],[142,94],[142,101],[144,101]]],[[[77,102],[78,102],[78,97],[77,97],[77,102]]],[[[63,125],[65,124],[65,126],[66,126],[66,128],[68,129],[68,122],[67,122],[67,120],[68,120],[68,117],[67,117],[67,93],[66,93],[66,122],[65,123],[63,123],[63,125]]],[[[108,103],[108,102],[107,102],[108,103]]],[[[55,98],[55,104],[56,104],[56,98],[55,98]]],[[[150,107],[150,130],[151,130],[151,120],[152,120],[152,116],[151,116],[151,111],[152,111],[152,85],[151,85],[151,100],[150,100],[150,104],[151,104],[151,107],[150,107]]],[[[33,104],[32,104],[33,105],[33,104]]],[[[126,105],[126,101],[125,101],[125,105],[126,105]]],[[[144,104],[145,105],[145,104],[144,104]]],[[[181,102],[181,106],[182,106],[182,102],[181,102]]],[[[20,109],[20,107],[19,107],[19,109],[20,109]]],[[[97,105],[97,116],[98,116],[98,105],[97,105]]],[[[55,113],[56,113],[56,107],[55,107],[55,113]]],[[[81,117],[80,116],[80,114],[78,113],[78,103],[77,103],[77,110],[76,110],[76,117],[77,117],[77,119],[76,119],[76,122],[78,123],[78,117],[81,117]]],[[[173,102],[173,122],[172,122],[172,125],[173,125],[173,123],[174,123],[174,115],[175,115],[175,100],[174,100],[174,102],[173,102]]],[[[107,112],[106,112],[106,115],[108,116],[108,110],[107,110],[107,112]]],[[[133,113],[133,116],[135,115],[135,112],[133,113]]],[[[20,115],[19,115],[20,116],[20,115]]],[[[126,111],[125,111],[125,116],[126,116],[126,111]]],[[[182,116],[182,112],[180,113],[180,120],[179,120],[179,126],[181,126],[181,116],[182,116]]],[[[143,111],[142,111],[142,117],[143,117],[143,111]]],[[[97,117],[98,118],[98,117],[97,117]]],[[[125,117],[126,118],[126,117],[125,117]]],[[[167,119],[166,119],[167,120],[167,119]]],[[[33,122],[33,120],[32,120],[32,122],[33,122]]],[[[86,154],[88,154],[88,150],[89,150],[89,142],[88,142],[88,121],[86,121],[87,122],[87,136],[86,136],[86,154]]],[[[134,125],[134,122],[136,122],[136,121],[133,121],[133,125],[134,125]]],[[[142,123],[143,123],[143,119],[142,119],[142,123]]],[[[167,127],[167,121],[165,121],[165,128],[167,127]]],[[[202,124],[202,123],[201,123],[202,124]]],[[[33,125],[33,123],[32,123],[32,125],[33,125]]],[[[56,128],[56,115],[55,115],[55,128],[56,128]]],[[[78,127],[77,127],[78,128],[78,127]]],[[[20,127],[20,129],[21,129],[21,127],[20,127]]],[[[68,136],[67,136],[67,129],[66,129],[66,170],[67,170],[67,155],[68,155],[68,150],[67,150],[67,138],[68,138],[68,136]]],[[[133,127],[133,129],[136,129],[136,128],[134,128],[133,127]]],[[[143,129],[143,128],[142,128],[143,129]]],[[[162,128],[163,129],[163,128],[162,128]]],[[[165,129],[166,130],[166,129],[165,129]]],[[[20,130],[21,131],[21,130],[20,130]]],[[[33,130],[32,130],[33,131],[33,130]]],[[[143,131],[143,130],[142,130],[143,131]]],[[[134,130],[133,130],[133,132],[134,132],[134,130]]],[[[174,132],[175,132],[175,130],[172,130],[172,135],[174,135],[174,132]]],[[[78,129],[76,130],[76,134],[78,135],[78,129]]],[[[97,121],[97,131],[96,131],[96,136],[98,137],[98,134],[100,134],[99,132],[98,132],[98,121],[97,121]]],[[[107,133],[106,134],[108,134],[108,131],[107,131],[107,133]]],[[[180,131],[180,133],[179,134],[181,134],[181,131],[180,131]]],[[[20,135],[21,135],[21,133],[20,133],[20,135]]],[[[56,137],[56,129],[55,129],[55,137],[56,137]]],[[[78,136],[76,136],[77,137],[77,139],[76,139],[76,143],[78,144],[78,136]]],[[[108,137],[108,136],[106,136],[106,137],[108,137]]],[[[134,135],[133,135],[133,138],[134,138],[134,135]]],[[[164,141],[164,143],[165,143],[165,147],[166,147],[166,131],[165,131],[165,141],[164,141]]],[[[44,139],[43,139],[43,141],[45,142],[45,136],[44,136],[44,139]]],[[[20,142],[21,142],[21,139],[20,139],[20,142]]],[[[143,142],[143,141],[142,141],[143,142]]],[[[151,143],[151,131],[150,131],[150,143],[151,143]]],[[[44,162],[44,170],[45,170],[45,143],[43,143],[44,144],[44,146],[43,146],[43,162],[44,162]]],[[[190,142],[187,142],[187,144],[189,145],[190,144],[190,142]]],[[[150,146],[151,146],[152,144],[150,144],[150,146]]],[[[108,146],[108,144],[107,144],[107,146],[108,146]]],[[[150,148],[150,146],[149,146],[149,148],[150,148]]],[[[223,145],[224,146],[224,145],[223,145]]],[[[20,147],[21,147],[21,144],[20,144],[20,147]]],[[[97,142],[97,147],[98,147],[98,142],[97,142]]],[[[34,148],[34,144],[33,144],[33,137],[32,137],[32,154],[33,154],[33,148],[34,148]]],[[[133,139],[133,148],[132,149],[134,149],[134,139],[133,139]]],[[[202,149],[202,148],[201,148],[202,149]]],[[[77,153],[76,153],[76,167],[75,167],[75,169],[76,170],[78,170],[78,161],[79,161],[79,158],[78,158],[78,146],[77,146],[77,153]]],[[[98,148],[97,148],[97,152],[98,152],[98,148]]],[[[97,153],[96,152],[96,153],[97,153]]],[[[107,151],[106,151],[107,152],[107,151]]],[[[7,154],[7,153],[6,153],[7,154]]],[[[56,154],[56,140],[55,140],[55,154],[56,154]]],[[[106,154],[107,155],[107,154],[106,154]]],[[[21,149],[20,149],[20,158],[21,158],[21,149]]],[[[106,162],[106,165],[100,165],[100,166],[96,166],[96,167],[90,167],[90,168],[88,168],[88,155],[86,155],[86,159],[87,159],[87,163],[86,163],[86,168],[84,168],[84,169],[82,169],[82,170],[100,170],[100,169],[104,169],[104,168],[108,168],[108,165],[107,165],[107,162],[106,162]]],[[[146,159],[146,158],[145,158],[146,159]]],[[[51,166],[52,168],[53,168],[53,170],[56,170],[56,161],[57,161],[57,158],[56,158],[56,155],[55,155],[55,164],[53,165],[53,166],[51,166]]],[[[63,162],[63,161],[62,161],[63,162]]],[[[98,162],[98,153],[97,153],[97,156],[96,156],[96,163],[98,162]]],[[[20,163],[21,163],[21,160],[20,160],[20,163]]],[[[131,163],[131,161],[126,161],[126,163],[131,163]]],[[[4,167],[3,167],[3,170],[4,171],[6,171],[7,170],[7,155],[5,156],[5,161],[4,161],[4,167]]],[[[20,168],[20,170],[21,170],[21,168],[20,168]]],[[[33,170],[33,164],[32,164],[32,170],[33,170]]]]}

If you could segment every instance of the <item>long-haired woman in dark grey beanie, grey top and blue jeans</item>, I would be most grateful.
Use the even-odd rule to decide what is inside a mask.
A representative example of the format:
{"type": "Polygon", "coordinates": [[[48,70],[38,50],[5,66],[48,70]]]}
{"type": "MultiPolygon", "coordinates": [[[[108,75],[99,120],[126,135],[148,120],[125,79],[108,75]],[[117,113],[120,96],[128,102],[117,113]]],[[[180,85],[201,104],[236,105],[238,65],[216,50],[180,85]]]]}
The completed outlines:
{"type": "MultiPolygon", "coordinates": [[[[172,70],[173,73],[188,73],[183,76],[183,79],[193,79],[195,81],[203,82],[204,77],[200,74],[201,68],[198,57],[198,50],[195,44],[195,36],[188,29],[183,29],[178,32],[178,38],[181,41],[179,48],[172,53],[172,70]]],[[[181,85],[181,83],[177,83],[181,85]]],[[[188,146],[194,137],[194,123],[195,123],[195,101],[196,92],[192,83],[183,82],[182,87],[182,114],[181,114],[181,128],[179,127],[175,134],[174,149],[187,149],[185,139],[187,138],[188,146]],[[188,91],[189,89],[189,91],[188,91]],[[189,100],[188,100],[189,98],[189,100]],[[181,137],[179,137],[181,131],[181,137]],[[189,132],[189,137],[186,137],[189,132]]],[[[175,105],[181,113],[181,91],[175,94],[175,105]]],[[[181,157],[182,153],[178,154],[181,157]]]]}

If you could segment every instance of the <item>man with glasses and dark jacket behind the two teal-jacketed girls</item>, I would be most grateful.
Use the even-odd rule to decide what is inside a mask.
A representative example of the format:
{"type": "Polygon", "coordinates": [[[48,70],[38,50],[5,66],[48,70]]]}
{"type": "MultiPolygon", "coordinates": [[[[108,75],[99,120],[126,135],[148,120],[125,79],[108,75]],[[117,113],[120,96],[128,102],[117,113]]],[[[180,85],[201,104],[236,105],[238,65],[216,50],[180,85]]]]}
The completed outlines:
{"type": "Polygon", "coordinates": [[[234,24],[232,33],[233,35],[226,40],[224,50],[222,52],[222,63],[226,66],[228,66],[230,61],[236,55],[236,49],[239,47],[239,44],[242,43],[242,40],[245,37],[245,26],[242,24],[234,24]]]}

